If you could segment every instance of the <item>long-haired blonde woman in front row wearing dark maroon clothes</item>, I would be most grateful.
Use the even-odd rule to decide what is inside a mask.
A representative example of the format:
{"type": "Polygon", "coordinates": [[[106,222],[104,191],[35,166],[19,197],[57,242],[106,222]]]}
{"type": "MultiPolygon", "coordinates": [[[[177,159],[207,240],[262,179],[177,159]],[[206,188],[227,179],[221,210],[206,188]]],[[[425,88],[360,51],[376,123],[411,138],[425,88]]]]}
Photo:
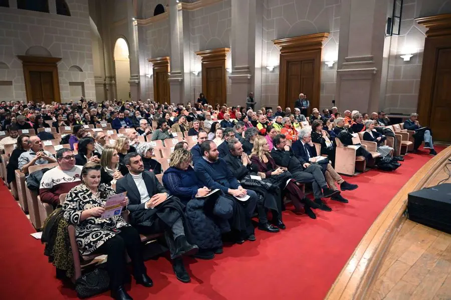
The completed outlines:
{"type": "MultiPolygon", "coordinates": [[[[278,185],[286,196],[293,202],[296,213],[300,212],[302,203],[304,203],[305,212],[311,217],[316,218],[315,213],[310,207],[318,207],[307,199],[304,192],[298,187],[292,174],[281,167],[277,167],[273,157],[269,152],[269,144],[265,137],[258,136],[254,140],[254,148],[251,152],[251,161],[254,163],[259,172],[265,173],[265,177],[274,185],[278,185]],[[302,202],[302,203],[301,203],[302,202]]],[[[283,196],[283,194],[282,194],[283,196]]]]}

